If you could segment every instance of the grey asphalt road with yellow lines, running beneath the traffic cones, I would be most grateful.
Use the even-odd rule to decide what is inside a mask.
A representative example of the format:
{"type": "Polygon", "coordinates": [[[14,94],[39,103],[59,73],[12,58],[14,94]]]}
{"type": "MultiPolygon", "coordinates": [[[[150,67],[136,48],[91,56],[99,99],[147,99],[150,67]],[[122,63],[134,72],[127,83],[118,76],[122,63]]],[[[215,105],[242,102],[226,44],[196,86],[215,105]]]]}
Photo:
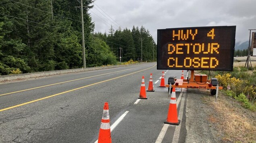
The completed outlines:
{"type": "Polygon", "coordinates": [[[187,93],[176,92],[183,124],[164,124],[170,99],[167,88],[158,87],[162,71],[165,83],[169,76],[181,76],[181,70],[156,70],[156,63],[145,63],[1,84],[0,142],[94,143],[108,102],[110,125],[125,113],[112,129],[113,143],[182,143],[187,93]],[[155,92],[134,104],[142,76],[147,89],[150,73],[155,92]]]}

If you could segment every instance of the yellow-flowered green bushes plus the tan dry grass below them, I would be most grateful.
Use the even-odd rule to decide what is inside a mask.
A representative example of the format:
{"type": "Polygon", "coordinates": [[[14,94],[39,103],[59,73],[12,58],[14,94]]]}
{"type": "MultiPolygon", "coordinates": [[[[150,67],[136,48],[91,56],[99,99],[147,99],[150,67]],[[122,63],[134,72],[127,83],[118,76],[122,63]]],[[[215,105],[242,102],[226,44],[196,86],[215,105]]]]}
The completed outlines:
{"type": "Polygon", "coordinates": [[[210,72],[223,90],[219,90],[217,103],[212,96],[202,100],[212,108],[208,121],[225,143],[256,143],[256,66],[253,69],[236,66],[232,72],[210,72]]]}

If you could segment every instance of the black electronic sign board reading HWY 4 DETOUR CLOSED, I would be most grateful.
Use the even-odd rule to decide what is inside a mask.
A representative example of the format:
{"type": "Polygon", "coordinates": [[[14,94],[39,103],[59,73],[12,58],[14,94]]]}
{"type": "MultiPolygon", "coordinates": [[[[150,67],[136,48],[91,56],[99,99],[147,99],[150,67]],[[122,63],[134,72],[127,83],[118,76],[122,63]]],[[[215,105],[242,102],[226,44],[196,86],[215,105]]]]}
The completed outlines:
{"type": "Polygon", "coordinates": [[[157,69],[233,70],[236,26],[157,30],[157,69]]]}

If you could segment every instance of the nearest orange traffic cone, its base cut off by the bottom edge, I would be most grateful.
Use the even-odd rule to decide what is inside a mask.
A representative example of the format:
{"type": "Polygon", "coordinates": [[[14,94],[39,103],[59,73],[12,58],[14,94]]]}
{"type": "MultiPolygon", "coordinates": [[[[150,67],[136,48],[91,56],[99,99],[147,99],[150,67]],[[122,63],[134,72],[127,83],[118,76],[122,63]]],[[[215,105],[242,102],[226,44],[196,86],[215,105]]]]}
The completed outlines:
{"type": "Polygon", "coordinates": [[[103,108],[103,115],[100,124],[100,133],[98,143],[111,143],[110,135],[110,119],[108,113],[108,103],[106,102],[103,108]]]}

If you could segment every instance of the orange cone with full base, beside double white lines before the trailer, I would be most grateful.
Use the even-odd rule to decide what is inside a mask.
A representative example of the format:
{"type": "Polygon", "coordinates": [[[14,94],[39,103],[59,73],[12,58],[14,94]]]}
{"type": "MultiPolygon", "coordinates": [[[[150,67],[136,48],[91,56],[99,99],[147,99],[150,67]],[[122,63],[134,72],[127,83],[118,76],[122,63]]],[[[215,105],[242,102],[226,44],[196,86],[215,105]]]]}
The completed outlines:
{"type": "Polygon", "coordinates": [[[175,94],[175,88],[173,87],[172,95],[171,95],[171,101],[169,104],[169,111],[167,115],[165,124],[171,124],[171,125],[179,125],[180,120],[178,120],[178,113],[177,113],[177,105],[176,105],[176,94],[175,94]]]}

